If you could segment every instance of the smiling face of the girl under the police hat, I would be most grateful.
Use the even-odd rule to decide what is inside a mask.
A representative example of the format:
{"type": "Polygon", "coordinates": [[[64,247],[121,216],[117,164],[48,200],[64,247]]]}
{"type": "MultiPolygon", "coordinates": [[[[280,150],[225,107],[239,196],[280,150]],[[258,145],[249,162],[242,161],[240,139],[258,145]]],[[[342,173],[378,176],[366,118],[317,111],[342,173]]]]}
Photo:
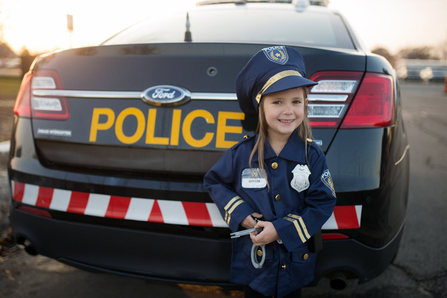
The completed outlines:
{"type": "Polygon", "coordinates": [[[265,95],[262,104],[268,124],[268,139],[289,137],[303,122],[307,103],[303,87],[265,95]]]}

